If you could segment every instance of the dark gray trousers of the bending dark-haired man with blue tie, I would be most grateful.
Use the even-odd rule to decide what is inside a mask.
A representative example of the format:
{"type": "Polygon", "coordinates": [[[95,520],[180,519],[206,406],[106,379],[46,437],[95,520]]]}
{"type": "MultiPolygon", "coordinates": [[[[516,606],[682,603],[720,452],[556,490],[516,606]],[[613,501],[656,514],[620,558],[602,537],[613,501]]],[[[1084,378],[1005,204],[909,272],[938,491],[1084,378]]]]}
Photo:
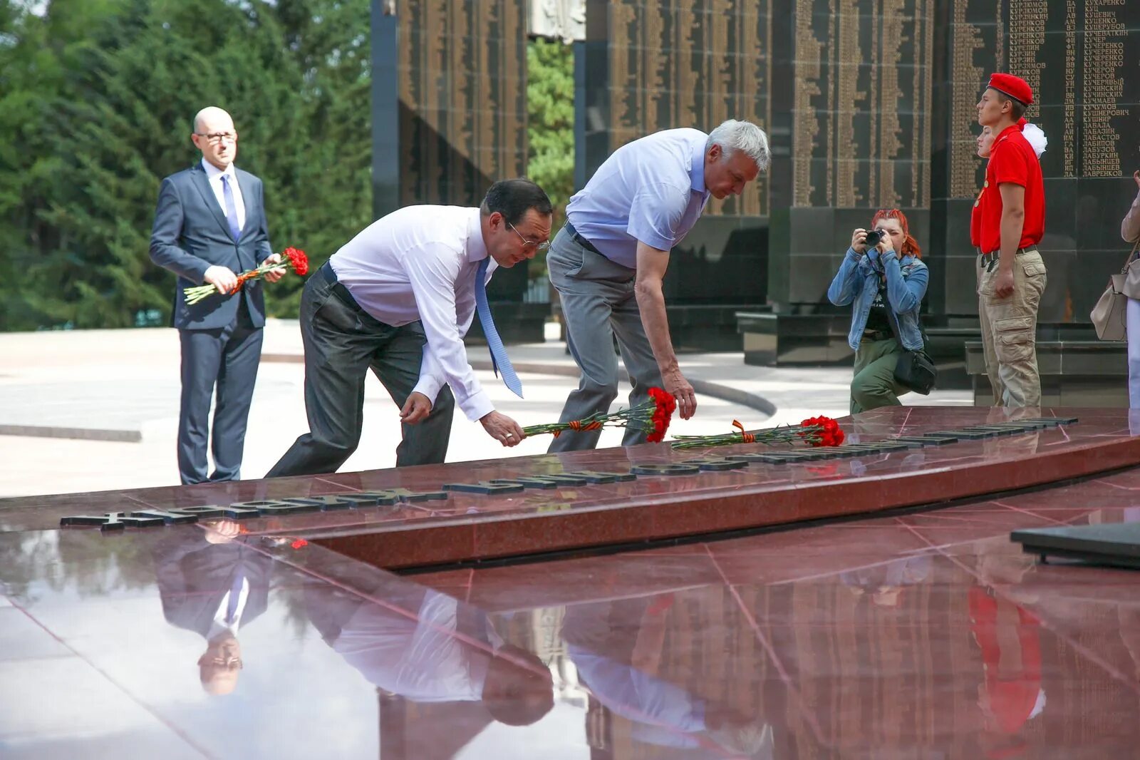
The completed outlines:
{"type": "MultiPolygon", "coordinates": [[[[319,270],[301,293],[301,339],[309,432],[274,464],[269,478],[335,472],[360,443],[368,369],[404,406],[420,380],[427,342],[421,323],[393,328],[375,320],[336,296],[319,270]]],[[[397,467],[443,461],[454,407],[451,389],[443,386],[426,419],[401,426],[397,467]]]]}

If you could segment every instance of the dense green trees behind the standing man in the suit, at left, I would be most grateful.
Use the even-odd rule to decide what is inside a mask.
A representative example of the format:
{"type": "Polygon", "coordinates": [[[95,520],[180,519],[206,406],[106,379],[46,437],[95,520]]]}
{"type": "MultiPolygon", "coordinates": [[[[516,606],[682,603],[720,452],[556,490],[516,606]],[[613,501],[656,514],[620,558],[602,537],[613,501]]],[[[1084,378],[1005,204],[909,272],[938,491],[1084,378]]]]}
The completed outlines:
{"type": "MultiPolygon", "coordinates": [[[[270,238],[317,261],[370,220],[368,0],[52,0],[0,14],[0,329],[169,315],[148,257],[192,118],[234,115],[270,238]]],[[[300,281],[269,289],[296,313],[300,281]]]]}

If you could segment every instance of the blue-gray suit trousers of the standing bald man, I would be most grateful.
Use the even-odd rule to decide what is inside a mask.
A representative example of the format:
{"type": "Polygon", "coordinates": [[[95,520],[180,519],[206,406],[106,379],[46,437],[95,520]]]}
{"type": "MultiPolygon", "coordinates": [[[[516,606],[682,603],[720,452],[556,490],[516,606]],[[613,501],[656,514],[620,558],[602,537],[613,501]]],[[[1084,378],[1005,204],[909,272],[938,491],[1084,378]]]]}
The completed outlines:
{"type": "Polygon", "coordinates": [[[178,331],[182,354],[178,476],[182,485],[241,477],[245,427],[261,361],[262,330],[251,324],[243,305],[228,328],[178,331]],[[206,442],[214,387],[218,389],[212,440],[214,471],[207,478],[206,442]]]}

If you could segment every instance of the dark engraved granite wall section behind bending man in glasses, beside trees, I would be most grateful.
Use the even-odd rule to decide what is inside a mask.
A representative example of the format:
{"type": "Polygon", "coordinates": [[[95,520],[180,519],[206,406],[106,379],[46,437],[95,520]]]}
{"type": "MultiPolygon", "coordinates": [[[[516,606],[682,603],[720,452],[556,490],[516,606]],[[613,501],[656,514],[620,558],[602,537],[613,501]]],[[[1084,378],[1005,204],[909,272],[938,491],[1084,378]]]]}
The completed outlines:
{"type": "MultiPolygon", "coordinates": [[[[376,218],[477,205],[496,179],[526,175],[528,13],[528,0],[373,0],[376,218]]],[[[504,340],[542,340],[548,307],[523,304],[526,290],[524,266],[488,286],[504,340]]]]}

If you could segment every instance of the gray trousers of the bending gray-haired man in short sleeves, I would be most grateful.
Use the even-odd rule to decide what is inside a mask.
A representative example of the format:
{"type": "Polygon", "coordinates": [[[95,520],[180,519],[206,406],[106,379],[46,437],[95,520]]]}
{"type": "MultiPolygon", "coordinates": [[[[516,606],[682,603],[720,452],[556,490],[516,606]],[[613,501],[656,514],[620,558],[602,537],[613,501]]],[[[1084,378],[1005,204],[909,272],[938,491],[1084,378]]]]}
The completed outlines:
{"type": "MultiPolygon", "coordinates": [[[[633,385],[629,405],[646,401],[649,389],[661,385],[661,372],[645,337],[634,294],[636,270],[583,248],[565,229],[554,237],[546,254],[546,267],[562,301],[570,354],[581,370],[578,389],[570,393],[559,421],[569,422],[604,412],[617,398],[614,335],[633,385]]],[[[549,451],[594,448],[601,434],[601,430],[567,431],[551,443],[549,451]]],[[[645,443],[646,435],[645,430],[626,428],[621,444],[645,443]]]]}

